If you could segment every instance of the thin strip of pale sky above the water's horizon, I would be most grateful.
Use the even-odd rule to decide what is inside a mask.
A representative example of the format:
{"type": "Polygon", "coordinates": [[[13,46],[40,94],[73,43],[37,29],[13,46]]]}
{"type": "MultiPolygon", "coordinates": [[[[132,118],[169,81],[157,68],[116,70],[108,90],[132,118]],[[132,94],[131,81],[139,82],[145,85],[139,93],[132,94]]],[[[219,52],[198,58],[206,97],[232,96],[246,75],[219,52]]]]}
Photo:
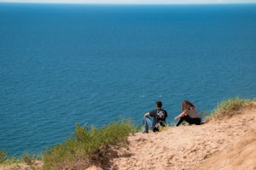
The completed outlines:
{"type": "Polygon", "coordinates": [[[198,4],[256,3],[256,0],[0,0],[9,3],[113,3],[113,4],[198,4]]]}

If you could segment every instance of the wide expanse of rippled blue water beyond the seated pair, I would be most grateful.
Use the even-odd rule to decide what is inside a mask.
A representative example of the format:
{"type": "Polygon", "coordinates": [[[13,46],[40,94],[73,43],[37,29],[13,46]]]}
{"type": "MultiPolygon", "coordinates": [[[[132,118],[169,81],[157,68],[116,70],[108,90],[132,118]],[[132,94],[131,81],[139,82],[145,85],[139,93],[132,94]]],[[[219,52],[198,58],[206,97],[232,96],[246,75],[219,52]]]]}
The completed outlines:
{"type": "Polygon", "coordinates": [[[0,150],[63,142],[162,100],[212,111],[256,94],[256,5],[0,3],[0,150]]]}

